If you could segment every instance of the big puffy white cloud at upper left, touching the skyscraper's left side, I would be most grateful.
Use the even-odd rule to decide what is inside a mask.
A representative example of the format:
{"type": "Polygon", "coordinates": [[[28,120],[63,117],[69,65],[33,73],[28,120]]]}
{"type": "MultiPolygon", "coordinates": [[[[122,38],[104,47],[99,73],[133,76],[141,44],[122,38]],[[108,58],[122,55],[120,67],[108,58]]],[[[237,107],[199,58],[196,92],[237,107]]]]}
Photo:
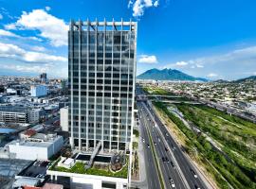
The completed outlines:
{"type": "Polygon", "coordinates": [[[24,11],[15,24],[9,24],[5,28],[39,30],[39,35],[49,40],[51,45],[67,45],[68,26],[64,20],[48,14],[44,9],[33,9],[29,13],[24,11]]]}

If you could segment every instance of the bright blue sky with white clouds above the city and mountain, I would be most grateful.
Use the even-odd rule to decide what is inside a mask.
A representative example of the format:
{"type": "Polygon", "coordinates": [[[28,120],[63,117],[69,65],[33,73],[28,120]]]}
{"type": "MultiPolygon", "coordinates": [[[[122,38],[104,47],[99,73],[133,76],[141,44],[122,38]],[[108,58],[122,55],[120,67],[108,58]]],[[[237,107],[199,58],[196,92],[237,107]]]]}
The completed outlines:
{"type": "Polygon", "coordinates": [[[138,22],[137,74],[256,75],[255,0],[0,0],[0,75],[67,76],[70,19],[138,22]]]}

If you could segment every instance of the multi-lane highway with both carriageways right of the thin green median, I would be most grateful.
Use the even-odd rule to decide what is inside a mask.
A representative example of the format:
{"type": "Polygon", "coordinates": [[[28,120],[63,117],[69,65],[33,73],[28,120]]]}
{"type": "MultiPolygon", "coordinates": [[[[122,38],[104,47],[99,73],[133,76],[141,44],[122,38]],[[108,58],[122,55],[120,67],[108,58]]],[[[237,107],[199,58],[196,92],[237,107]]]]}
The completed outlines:
{"type": "MultiPolygon", "coordinates": [[[[137,89],[137,94],[139,93],[142,94],[143,92],[137,89]]],[[[190,160],[184,155],[180,146],[176,144],[168,129],[161,123],[148,101],[137,101],[137,109],[144,136],[148,134],[147,141],[150,139],[149,136],[153,140],[165,187],[207,188],[190,160]]],[[[147,143],[146,139],[145,143],[147,143]]],[[[148,144],[145,144],[145,148],[148,144]]],[[[148,148],[150,147],[148,146],[148,148]]]]}

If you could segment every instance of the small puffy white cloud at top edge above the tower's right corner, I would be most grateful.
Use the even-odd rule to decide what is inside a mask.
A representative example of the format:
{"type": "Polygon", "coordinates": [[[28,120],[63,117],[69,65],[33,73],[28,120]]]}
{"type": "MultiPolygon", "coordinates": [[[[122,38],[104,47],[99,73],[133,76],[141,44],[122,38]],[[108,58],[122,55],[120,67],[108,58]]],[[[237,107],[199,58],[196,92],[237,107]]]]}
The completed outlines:
{"type": "Polygon", "coordinates": [[[158,7],[159,0],[130,0],[128,3],[128,8],[133,5],[133,16],[139,17],[144,14],[144,10],[151,7],[158,7]]]}

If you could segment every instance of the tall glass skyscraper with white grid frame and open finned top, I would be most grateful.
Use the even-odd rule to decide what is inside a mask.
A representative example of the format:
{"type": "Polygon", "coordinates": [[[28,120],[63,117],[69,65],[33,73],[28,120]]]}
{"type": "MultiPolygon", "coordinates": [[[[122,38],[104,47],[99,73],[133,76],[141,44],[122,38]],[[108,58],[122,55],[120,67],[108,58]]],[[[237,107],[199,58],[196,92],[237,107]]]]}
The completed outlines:
{"type": "Polygon", "coordinates": [[[137,22],[70,22],[70,144],[128,148],[134,124],[137,22]]]}

